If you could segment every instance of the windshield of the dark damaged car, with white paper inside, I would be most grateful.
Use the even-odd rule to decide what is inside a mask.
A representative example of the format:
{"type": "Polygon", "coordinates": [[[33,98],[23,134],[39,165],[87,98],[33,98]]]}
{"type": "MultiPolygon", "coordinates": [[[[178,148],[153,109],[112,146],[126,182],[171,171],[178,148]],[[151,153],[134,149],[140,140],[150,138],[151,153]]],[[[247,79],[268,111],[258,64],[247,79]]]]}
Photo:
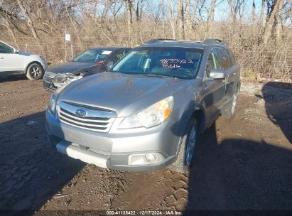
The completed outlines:
{"type": "Polygon", "coordinates": [[[112,53],[112,51],[109,50],[86,50],[84,53],[81,53],[80,55],[77,55],[75,58],[73,58],[72,61],[81,63],[97,63],[98,61],[106,60],[110,53],[112,53]]]}

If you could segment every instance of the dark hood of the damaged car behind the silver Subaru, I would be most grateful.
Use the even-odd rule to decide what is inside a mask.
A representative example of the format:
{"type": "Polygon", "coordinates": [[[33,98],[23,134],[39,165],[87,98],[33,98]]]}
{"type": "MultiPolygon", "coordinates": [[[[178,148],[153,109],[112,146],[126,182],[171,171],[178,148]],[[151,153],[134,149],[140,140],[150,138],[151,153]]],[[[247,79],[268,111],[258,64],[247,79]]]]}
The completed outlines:
{"type": "Polygon", "coordinates": [[[87,70],[91,70],[92,68],[96,67],[94,63],[80,63],[80,62],[67,62],[67,63],[60,63],[57,65],[50,65],[47,69],[48,72],[53,73],[70,73],[70,74],[77,74],[79,72],[85,72],[87,70]]]}

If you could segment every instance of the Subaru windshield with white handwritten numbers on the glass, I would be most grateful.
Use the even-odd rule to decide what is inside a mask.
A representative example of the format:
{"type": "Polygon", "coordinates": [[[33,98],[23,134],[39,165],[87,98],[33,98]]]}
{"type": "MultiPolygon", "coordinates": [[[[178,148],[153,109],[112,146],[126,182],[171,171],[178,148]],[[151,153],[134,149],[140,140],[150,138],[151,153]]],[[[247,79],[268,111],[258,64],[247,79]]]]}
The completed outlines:
{"type": "Polygon", "coordinates": [[[201,57],[202,50],[194,48],[136,48],[111,71],[193,79],[201,57]]]}

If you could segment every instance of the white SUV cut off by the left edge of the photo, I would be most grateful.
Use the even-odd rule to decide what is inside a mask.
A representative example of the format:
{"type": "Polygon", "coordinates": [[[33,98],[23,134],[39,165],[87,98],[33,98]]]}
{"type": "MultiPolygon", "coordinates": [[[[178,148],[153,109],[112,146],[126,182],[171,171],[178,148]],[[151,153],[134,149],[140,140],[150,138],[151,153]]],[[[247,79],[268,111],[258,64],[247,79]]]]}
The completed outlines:
{"type": "Polygon", "coordinates": [[[25,74],[29,80],[39,80],[47,68],[40,55],[23,53],[0,41],[0,76],[25,74]]]}

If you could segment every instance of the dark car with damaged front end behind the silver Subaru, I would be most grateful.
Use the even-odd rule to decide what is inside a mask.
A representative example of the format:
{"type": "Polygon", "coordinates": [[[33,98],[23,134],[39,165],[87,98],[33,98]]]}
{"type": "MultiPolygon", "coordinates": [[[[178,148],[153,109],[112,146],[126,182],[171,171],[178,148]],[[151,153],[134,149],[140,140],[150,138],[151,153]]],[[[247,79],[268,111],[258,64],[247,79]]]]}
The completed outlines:
{"type": "Polygon", "coordinates": [[[50,66],[45,71],[43,87],[45,90],[53,92],[58,87],[63,87],[82,77],[109,70],[129,50],[131,48],[90,48],[67,63],[50,66]]]}

